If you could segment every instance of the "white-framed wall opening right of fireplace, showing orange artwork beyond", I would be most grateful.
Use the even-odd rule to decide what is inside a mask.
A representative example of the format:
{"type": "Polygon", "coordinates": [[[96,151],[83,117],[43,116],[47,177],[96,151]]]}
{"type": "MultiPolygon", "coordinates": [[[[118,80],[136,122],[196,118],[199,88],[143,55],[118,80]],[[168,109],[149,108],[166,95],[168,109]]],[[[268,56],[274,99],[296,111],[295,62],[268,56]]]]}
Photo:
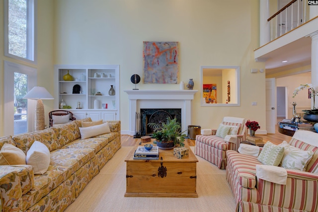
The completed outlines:
{"type": "Polygon", "coordinates": [[[239,106],[239,67],[200,66],[201,106],[239,106]]]}

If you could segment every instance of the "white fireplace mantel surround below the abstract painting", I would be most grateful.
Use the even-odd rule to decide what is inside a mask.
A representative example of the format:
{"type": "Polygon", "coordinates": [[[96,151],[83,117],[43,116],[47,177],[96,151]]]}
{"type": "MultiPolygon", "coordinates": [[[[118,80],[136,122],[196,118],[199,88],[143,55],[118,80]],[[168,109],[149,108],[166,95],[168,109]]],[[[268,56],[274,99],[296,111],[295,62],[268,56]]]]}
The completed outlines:
{"type": "Polygon", "coordinates": [[[182,131],[191,125],[191,100],[198,90],[124,90],[129,98],[129,133],[135,135],[141,108],[180,108],[182,131]]]}

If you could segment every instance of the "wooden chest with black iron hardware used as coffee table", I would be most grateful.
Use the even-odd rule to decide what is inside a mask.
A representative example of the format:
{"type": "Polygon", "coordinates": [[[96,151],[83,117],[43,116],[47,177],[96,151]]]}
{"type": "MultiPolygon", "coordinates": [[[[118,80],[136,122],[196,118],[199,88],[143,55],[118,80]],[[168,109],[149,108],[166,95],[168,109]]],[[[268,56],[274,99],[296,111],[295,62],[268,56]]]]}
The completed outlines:
{"type": "MultiPolygon", "coordinates": [[[[173,149],[159,149],[159,160],[134,160],[134,146],[126,158],[125,197],[198,197],[196,172],[198,159],[189,148],[189,157],[177,159],[173,149]]],[[[142,142],[145,145],[150,142],[142,142]]],[[[154,144],[156,145],[156,144],[154,144]]]]}

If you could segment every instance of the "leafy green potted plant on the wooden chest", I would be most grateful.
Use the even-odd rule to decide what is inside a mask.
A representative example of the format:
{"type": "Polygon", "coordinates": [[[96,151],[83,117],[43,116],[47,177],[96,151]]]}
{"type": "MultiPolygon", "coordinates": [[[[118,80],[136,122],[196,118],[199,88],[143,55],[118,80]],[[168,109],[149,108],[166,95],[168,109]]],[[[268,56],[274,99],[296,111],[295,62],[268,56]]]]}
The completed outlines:
{"type": "Polygon", "coordinates": [[[181,125],[176,119],[167,117],[166,122],[149,123],[148,126],[152,128],[152,138],[156,139],[159,148],[172,148],[180,145],[184,146],[184,132],[181,132],[181,125]]]}

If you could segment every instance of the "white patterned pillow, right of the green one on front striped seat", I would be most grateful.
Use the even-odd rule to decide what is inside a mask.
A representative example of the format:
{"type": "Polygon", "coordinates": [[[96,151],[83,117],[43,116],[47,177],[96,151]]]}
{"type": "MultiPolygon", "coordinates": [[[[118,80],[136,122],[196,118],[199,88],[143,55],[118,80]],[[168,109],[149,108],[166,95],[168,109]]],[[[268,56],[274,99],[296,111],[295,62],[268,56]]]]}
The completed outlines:
{"type": "Polygon", "coordinates": [[[284,147],[284,156],[281,161],[281,166],[285,169],[305,171],[307,164],[314,155],[313,151],[306,151],[289,145],[287,141],[283,141],[279,146],[284,147]]]}

